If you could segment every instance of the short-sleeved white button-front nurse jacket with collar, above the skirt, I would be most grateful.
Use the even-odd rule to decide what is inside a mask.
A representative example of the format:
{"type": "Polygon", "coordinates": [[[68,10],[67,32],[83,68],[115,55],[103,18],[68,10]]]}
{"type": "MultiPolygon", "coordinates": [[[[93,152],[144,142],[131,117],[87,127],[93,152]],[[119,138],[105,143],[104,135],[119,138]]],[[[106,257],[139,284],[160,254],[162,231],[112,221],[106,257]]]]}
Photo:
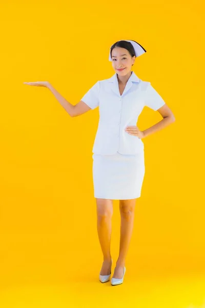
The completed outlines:
{"type": "Polygon", "coordinates": [[[134,155],[144,149],[144,143],[125,131],[136,125],[145,106],[157,110],[165,101],[150,82],[140,80],[134,71],[120,95],[117,73],[111,78],[97,81],[81,99],[90,108],[99,107],[99,123],[93,145],[93,153],[134,155]]]}

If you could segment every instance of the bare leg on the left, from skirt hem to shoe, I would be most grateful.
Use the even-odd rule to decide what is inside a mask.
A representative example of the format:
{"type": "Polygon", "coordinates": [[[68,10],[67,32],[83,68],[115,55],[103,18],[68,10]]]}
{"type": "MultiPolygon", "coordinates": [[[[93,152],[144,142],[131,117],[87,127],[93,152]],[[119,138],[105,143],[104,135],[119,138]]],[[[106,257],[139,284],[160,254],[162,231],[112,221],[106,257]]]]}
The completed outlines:
{"type": "Polygon", "coordinates": [[[97,232],[101,250],[103,252],[104,262],[101,267],[100,275],[110,275],[111,271],[111,222],[113,214],[113,200],[110,199],[98,199],[97,204],[97,232]]]}

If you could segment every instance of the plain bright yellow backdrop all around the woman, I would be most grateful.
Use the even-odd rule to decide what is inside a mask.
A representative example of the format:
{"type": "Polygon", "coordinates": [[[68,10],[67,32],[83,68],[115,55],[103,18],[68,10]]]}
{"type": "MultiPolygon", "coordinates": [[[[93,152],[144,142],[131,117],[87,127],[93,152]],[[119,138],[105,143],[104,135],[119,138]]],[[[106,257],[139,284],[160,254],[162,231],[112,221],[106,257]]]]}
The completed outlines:
{"type": "MultiPolygon", "coordinates": [[[[9,1],[1,4],[2,307],[205,306],[204,7],[173,0],[9,1]],[[101,284],[92,146],[98,108],[71,118],[46,88],[75,105],[115,72],[109,49],[135,40],[132,67],[176,122],[150,135],[124,284],[101,284]],[[108,288],[111,287],[111,288],[108,288]]],[[[138,127],[161,120],[145,107],[138,127]]],[[[114,201],[111,253],[118,257],[114,201]]],[[[112,268],[112,273],[114,266],[112,268]]]]}

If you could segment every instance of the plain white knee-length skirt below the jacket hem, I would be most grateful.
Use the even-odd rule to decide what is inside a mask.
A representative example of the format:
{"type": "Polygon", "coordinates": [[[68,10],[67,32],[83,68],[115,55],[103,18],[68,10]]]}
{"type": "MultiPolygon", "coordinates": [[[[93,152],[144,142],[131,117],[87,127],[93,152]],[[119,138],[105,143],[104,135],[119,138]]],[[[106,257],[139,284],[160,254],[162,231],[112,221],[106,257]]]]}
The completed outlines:
{"type": "Polygon", "coordinates": [[[144,149],[135,155],[93,153],[94,197],[112,200],[139,198],[145,176],[144,149]]]}

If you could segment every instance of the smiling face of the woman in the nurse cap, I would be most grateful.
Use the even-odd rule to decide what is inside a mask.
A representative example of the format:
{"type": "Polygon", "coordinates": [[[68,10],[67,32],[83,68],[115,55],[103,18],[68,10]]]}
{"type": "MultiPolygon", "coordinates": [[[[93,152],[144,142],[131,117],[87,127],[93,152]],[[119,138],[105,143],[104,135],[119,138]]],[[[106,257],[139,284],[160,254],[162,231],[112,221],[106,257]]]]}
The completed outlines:
{"type": "Polygon", "coordinates": [[[130,55],[129,51],[125,48],[115,47],[112,50],[112,66],[118,75],[126,75],[132,69],[132,64],[135,62],[136,56],[130,55]],[[118,70],[123,68],[123,70],[118,70]]]}

